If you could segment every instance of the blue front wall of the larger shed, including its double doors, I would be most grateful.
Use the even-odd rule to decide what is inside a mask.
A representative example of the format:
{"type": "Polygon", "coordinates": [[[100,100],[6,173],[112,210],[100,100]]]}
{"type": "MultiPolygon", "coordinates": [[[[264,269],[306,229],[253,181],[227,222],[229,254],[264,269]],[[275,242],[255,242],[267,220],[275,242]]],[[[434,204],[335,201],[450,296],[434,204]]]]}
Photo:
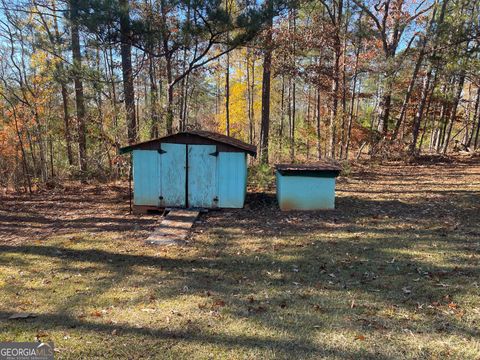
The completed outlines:
{"type": "Polygon", "coordinates": [[[247,192],[247,155],[220,152],[214,145],[162,143],[156,150],[133,151],[134,204],[158,207],[186,206],[188,151],[188,206],[242,208],[247,192]]]}

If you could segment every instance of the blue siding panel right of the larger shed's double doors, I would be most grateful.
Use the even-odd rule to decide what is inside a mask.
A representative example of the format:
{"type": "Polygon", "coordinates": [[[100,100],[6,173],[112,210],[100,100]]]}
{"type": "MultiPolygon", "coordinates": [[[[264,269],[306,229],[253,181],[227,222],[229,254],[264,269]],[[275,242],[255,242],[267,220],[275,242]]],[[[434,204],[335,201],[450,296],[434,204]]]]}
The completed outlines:
{"type": "Polygon", "coordinates": [[[242,208],[247,191],[247,155],[221,152],[218,155],[218,206],[242,208]]]}

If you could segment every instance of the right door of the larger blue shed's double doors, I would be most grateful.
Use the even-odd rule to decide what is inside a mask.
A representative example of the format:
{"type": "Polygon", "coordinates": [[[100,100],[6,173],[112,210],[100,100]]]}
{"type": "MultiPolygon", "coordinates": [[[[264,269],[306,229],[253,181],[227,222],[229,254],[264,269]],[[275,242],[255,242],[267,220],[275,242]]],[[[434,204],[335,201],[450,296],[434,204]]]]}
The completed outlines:
{"type": "Polygon", "coordinates": [[[188,207],[218,207],[217,147],[188,145],[188,207]]]}

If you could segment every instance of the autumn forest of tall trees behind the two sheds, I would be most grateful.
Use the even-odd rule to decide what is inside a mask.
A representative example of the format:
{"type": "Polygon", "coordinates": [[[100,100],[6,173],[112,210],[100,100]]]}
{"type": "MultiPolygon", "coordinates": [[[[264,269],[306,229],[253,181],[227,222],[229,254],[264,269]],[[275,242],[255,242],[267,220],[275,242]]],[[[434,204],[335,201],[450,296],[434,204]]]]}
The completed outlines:
{"type": "Polygon", "coordinates": [[[479,29],[476,0],[1,0],[0,185],[190,129],[260,164],[474,151],[479,29]]]}

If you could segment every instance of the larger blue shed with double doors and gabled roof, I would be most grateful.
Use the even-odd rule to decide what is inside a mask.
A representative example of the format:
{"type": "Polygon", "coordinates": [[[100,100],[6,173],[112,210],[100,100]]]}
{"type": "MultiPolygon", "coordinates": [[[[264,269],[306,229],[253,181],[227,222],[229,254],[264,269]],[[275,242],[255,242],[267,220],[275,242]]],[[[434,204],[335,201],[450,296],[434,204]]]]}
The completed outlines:
{"type": "Polygon", "coordinates": [[[186,131],[126,146],[133,157],[134,210],[242,208],[247,155],[255,146],[209,131],[186,131]]]}

